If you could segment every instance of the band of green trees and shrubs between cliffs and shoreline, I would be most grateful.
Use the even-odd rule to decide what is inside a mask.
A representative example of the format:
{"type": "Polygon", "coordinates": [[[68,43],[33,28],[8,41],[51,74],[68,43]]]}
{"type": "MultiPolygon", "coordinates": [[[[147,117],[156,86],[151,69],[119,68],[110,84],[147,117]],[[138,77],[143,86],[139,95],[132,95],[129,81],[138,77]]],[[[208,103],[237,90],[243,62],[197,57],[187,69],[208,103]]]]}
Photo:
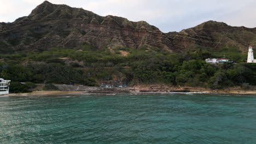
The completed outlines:
{"type": "MultiPolygon", "coordinates": [[[[0,55],[0,76],[12,81],[13,92],[20,91],[21,87],[32,88],[32,85],[16,82],[100,86],[102,82],[118,80],[130,86],[165,83],[214,89],[256,85],[256,64],[208,64],[204,61],[223,53],[237,62],[244,62],[247,56],[225,48],[217,52],[197,47],[185,53],[171,53],[147,45],[139,49],[95,49],[84,43],[79,49],[53,48],[0,55]]],[[[55,89],[50,85],[45,89],[49,89],[48,86],[55,89]]]]}

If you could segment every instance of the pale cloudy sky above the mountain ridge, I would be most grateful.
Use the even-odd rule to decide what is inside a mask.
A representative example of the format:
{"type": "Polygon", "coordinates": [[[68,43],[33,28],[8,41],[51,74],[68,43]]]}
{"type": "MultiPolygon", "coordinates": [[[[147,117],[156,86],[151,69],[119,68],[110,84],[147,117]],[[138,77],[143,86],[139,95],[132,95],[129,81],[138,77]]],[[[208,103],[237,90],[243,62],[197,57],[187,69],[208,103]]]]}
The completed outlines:
{"type": "MultiPolygon", "coordinates": [[[[0,22],[27,16],[44,0],[0,0],[0,22]]],[[[181,31],[209,20],[256,27],[255,0],[48,0],[54,4],[147,21],[162,32],[181,31]]]]}

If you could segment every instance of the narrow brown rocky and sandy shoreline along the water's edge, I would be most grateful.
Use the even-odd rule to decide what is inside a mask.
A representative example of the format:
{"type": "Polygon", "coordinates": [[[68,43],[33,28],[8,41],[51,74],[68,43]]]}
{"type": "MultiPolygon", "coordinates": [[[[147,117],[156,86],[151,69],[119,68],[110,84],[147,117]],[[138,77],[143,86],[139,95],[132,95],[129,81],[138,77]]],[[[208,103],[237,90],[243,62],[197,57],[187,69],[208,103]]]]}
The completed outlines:
{"type": "Polygon", "coordinates": [[[240,87],[228,89],[207,89],[200,87],[166,87],[163,85],[154,86],[135,86],[133,88],[102,88],[102,87],[85,87],[85,86],[70,86],[57,85],[60,91],[33,91],[32,93],[10,93],[9,97],[19,96],[43,96],[43,95],[80,95],[80,94],[117,94],[117,93],[214,93],[214,94],[242,94],[255,95],[256,89],[242,89],[240,87]]]}

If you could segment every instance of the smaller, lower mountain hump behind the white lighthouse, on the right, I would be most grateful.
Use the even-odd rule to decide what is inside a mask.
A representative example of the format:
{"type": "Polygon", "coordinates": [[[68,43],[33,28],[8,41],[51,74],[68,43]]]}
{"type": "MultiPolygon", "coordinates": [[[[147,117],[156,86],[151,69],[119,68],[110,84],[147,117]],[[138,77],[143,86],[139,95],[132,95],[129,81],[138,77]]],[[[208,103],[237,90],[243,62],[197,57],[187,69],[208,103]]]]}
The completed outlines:
{"type": "Polygon", "coordinates": [[[211,50],[237,47],[246,52],[248,45],[256,46],[256,28],[231,27],[223,22],[207,21],[174,35],[173,45],[184,51],[200,46],[211,50]]]}

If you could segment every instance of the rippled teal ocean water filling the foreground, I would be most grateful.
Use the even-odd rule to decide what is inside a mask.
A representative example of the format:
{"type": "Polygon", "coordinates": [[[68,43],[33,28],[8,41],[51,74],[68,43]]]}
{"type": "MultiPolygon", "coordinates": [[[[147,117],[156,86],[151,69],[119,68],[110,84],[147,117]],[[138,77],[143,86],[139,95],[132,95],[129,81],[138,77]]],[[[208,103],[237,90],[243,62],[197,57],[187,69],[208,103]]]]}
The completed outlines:
{"type": "Polygon", "coordinates": [[[256,143],[256,97],[0,97],[0,143],[256,143]]]}

